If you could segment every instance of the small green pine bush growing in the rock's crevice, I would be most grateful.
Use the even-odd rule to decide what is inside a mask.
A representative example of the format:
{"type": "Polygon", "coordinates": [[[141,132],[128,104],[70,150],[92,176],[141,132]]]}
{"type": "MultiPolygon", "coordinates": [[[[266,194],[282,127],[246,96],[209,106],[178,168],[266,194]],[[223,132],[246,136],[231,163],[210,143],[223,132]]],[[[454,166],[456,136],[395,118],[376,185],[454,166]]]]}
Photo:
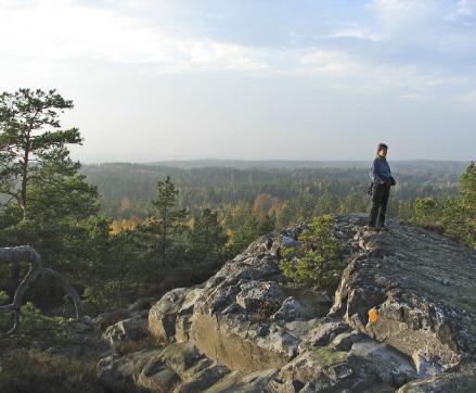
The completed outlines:
{"type": "Polygon", "coordinates": [[[330,215],[314,217],[309,229],[299,236],[298,248],[286,248],[279,266],[297,284],[313,284],[333,289],[340,280],[344,264],[340,243],[334,234],[334,219],[330,215]]]}

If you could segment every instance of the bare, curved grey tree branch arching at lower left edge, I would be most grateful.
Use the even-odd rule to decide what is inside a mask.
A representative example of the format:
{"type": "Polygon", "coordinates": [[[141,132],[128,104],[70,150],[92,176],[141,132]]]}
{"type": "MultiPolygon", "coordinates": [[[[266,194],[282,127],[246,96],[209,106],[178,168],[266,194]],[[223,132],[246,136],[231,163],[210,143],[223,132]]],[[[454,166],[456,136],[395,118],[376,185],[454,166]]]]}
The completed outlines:
{"type": "Polygon", "coordinates": [[[0,306],[0,314],[2,313],[15,313],[15,321],[13,324],[12,329],[8,332],[1,334],[12,334],[16,330],[18,330],[20,321],[21,321],[21,307],[22,301],[25,292],[28,288],[41,276],[51,276],[54,277],[60,284],[65,289],[66,296],[70,299],[76,309],[76,318],[78,318],[78,305],[79,305],[79,295],[76,290],[70,286],[68,280],[62,276],[60,272],[44,268],[41,262],[41,256],[38,254],[35,249],[29,245],[20,245],[15,248],[3,248],[0,249],[0,263],[13,263],[20,264],[21,262],[29,262],[30,268],[26,276],[23,278],[22,282],[15,290],[15,294],[13,296],[13,302],[3,306],[0,306]]]}

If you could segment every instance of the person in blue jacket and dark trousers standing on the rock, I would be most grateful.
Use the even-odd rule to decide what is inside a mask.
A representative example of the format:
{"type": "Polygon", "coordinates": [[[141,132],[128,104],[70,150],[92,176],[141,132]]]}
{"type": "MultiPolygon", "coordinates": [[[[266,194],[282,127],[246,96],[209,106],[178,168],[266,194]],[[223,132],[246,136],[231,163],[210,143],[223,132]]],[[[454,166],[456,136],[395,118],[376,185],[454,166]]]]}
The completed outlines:
{"type": "Polygon", "coordinates": [[[369,215],[369,227],[372,229],[385,229],[385,214],[390,196],[390,187],[396,183],[387,162],[387,151],[388,147],[385,143],[378,144],[377,155],[370,169],[372,207],[369,215]]]}

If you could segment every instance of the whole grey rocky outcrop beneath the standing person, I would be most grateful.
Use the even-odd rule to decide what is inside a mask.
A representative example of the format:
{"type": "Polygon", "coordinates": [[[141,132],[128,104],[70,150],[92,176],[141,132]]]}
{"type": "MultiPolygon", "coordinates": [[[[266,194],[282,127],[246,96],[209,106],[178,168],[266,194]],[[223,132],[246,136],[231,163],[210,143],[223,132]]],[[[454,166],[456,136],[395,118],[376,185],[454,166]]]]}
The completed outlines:
{"type": "Polygon", "coordinates": [[[102,359],[100,380],[154,392],[475,390],[476,253],[396,220],[365,232],[365,218],[336,218],[347,267],[335,293],[290,286],[278,267],[306,224],[263,236],[203,286],[165,294],[149,312],[157,347],[102,359]]]}

